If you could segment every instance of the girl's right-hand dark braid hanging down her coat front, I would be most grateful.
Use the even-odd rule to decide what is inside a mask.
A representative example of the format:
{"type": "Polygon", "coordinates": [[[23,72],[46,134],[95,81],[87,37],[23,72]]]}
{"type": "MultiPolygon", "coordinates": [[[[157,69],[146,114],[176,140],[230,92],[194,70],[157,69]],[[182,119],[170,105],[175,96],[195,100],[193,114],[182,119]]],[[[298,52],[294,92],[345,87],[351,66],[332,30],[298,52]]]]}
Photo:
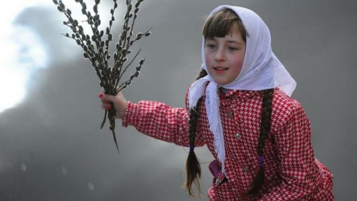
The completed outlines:
{"type": "Polygon", "coordinates": [[[270,131],[271,126],[271,108],[273,99],[274,89],[266,89],[263,91],[263,106],[261,115],[261,128],[258,140],[258,161],[259,169],[258,173],[253,180],[251,189],[245,193],[245,195],[256,194],[260,191],[264,182],[264,168],[263,168],[263,148],[265,144],[265,139],[270,131]]]}

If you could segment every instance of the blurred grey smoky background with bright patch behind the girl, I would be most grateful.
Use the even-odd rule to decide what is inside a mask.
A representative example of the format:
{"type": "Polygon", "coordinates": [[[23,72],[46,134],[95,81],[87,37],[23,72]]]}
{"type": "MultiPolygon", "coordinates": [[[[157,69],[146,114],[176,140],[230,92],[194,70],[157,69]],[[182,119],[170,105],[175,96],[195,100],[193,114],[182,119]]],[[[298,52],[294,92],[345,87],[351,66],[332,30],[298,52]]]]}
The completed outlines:
{"type": "MultiPolygon", "coordinates": [[[[74,0],[63,0],[78,21],[74,0]]],[[[92,8],[94,1],[85,1],[92,8]]],[[[118,0],[114,41],[125,1],[118,0]]],[[[0,200],[190,200],[184,188],[188,149],[158,141],[117,120],[118,155],[97,97],[99,80],[72,39],[51,0],[2,2],[0,13],[0,200]]],[[[113,1],[99,5],[101,28],[113,1]]],[[[221,4],[255,11],[271,31],[273,52],[297,82],[299,100],[312,123],[315,156],[333,173],[335,200],[356,197],[356,20],[354,0],[145,0],[134,34],[145,57],[127,100],[155,100],[184,107],[185,92],[201,66],[201,28],[221,4]]],[[[89,33],[89,27],[86,27],[89,33]]],[[[114,43],[112,43],[114,45],[114,43]]],[[[111,47],[112,51],[114,46],[111,47]]],[[[112,52],[111,51],[111,52],[112,52]]],[[[136,64],[133,65],[135,67],[136,64]]],[[[134,72],[134,69],[132,69],[134,72]]],[[[128,74],[129,76],[129,74],[128,74]]],[[[204,193],[212,183],[207,147],[204,193]]],[[[194,200],[194,199],[192,199],[194,200]]],[[[205,195],[200,200],[208,200],[205,195]]]]}

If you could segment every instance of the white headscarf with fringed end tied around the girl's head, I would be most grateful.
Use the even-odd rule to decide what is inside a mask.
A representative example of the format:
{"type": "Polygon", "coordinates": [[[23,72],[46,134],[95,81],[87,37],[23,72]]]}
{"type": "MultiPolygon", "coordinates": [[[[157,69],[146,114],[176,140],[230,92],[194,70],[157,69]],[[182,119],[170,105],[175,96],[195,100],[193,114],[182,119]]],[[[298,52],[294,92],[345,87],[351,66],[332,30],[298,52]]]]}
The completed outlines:
{"type": "Polygon", "coordinates": [[[218,6],[211,12],[210,16],[224,7],[236,12],[249,35],[246,40],[246,52],[242,70],[233,82],[223,85],[217,84],[209,74],[205,64],[205,38],[202,37],[202,68],[207,71],[208,75],[194,82],[188,91],[188,103],[190,108],[193,108],[203,95],[206,82],[210,82],[206,88],[205,104],[208,123],[215,139],[215,151],[218,160],[222,164],[223,173],[225,173],[225,148],[222,121],[219,113],[218,88],[264,90],[278,86],[290,96],[296,87],[295,80],[272,52],[270,31],[263,20],[252,10],[229,5],[218,6]]]}

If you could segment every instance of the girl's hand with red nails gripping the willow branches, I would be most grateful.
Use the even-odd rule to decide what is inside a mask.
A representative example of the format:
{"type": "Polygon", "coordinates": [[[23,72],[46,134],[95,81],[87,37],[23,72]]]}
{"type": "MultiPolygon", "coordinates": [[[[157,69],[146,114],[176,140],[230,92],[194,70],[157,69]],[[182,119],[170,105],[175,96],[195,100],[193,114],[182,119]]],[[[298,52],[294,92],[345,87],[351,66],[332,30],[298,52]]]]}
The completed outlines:
{"type": "Polygon", "coordinates": [[[110,109],[110,102],[113,102],[116,111],[116,117],[119,119],[124,118],[125,109],[128,102],[125,100],[123,94],[119,92],[116,96],[104,94],[103,91],[99,93],[101,99],[101,106],[103,109],[110,109]]]}

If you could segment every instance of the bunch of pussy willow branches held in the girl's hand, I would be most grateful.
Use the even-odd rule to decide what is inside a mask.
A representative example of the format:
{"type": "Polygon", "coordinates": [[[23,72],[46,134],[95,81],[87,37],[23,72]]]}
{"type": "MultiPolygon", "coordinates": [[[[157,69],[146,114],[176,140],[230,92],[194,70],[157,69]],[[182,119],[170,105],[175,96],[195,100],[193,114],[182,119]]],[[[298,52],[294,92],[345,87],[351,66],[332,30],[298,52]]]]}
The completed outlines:
{"type": "MultiPolygon", "coordinates": [[[[131,0],[126,0],[126,13],[124,15],[124,23],[122,24],[122,32],[119,35],[119,41],[116,43],[116,51],[112,54],[109,53],[109,44],[113,40],[113,35],[110,33],[111,27],[114,22],[114,12],[118,7],[117,1],[113,0],[114,6],[110,10],[111,20],[109,21],[109,27],[106,27],[105,31],[100,30],[101,24],[100,15],[98,14],[98,6],[100,0],[94,0],[93,14],[88,10],[86,3],[83,0],[75,0],[82,6],[82,14],[85,15],[85,20],[82,23],[87,23],[91,27],[92,33],[84,33],[83,27],[79,24],[78,20],[72,17],[72,12],[69,8],[66,8],[65,4],[59,0],[53,0],[53,3],[57,6],[57,9],[63,13],[67,21],[63,24],[68,26],[72,30],[72,34],[66,33],[67,38],[71,38],[76,41],[78,45],[84,50],[83,57],[90,60],[92,67],[95,69],[97,76],[99,77],[99,85],[104,88],[104,93],[109,95],[117,95],[121,90],[125,89],[132,83],[132,80],[139,76],[142,65],[145,62],[145,58],[139,60],[139,64],[135,67],[133,74],[129,76],[124,82],[122,78],[126,70],[131,66],[136,57],[139,55],[141,49],[135,54],[132,59],[129,59],[129,54],[132,53],[131,46],[143,37],[150,36],[151,28],[144,33],[137,33],[133,35],[133,28],[137,14],[139,12],[139,6],[144,0],[137,0],[135,4],[132,4],[131,0]],[[134,6],[134,8],[133,8],[134,6]],[[105,34],[104,34],[105,32],[105,34]],[[105,39],[106,38],[106,39],[105,39]],[[109,65],[109,61],[112,58],[113,66],[109,65]],[[119,85],[119,83],[121,83],[119,85]],[[119,85],[119,87],[118,87],[119,85]]],[[[112,131],[116,148],[119,152],[118,144],[115,137],[115,108],[111,102],[111,108],[105,111],[104,119],[101,127],[103,128],[106,119],[109,121],[109,129],[112,131]]]]}

